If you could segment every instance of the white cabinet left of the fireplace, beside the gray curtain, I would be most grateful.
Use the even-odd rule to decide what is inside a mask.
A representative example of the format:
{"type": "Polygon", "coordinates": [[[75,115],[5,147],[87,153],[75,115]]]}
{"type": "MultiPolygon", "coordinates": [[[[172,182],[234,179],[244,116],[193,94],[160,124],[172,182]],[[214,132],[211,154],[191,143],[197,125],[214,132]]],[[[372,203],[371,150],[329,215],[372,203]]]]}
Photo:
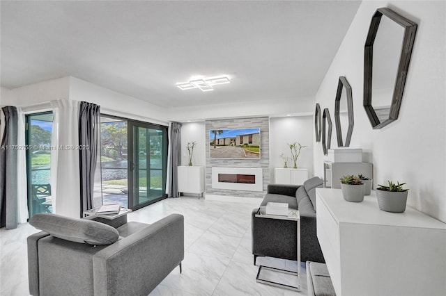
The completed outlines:
{"type": "Polygon", "coordinates": [[[178,194],[187,192],[203,196],[204,167],[178,166],[178,194]]]}

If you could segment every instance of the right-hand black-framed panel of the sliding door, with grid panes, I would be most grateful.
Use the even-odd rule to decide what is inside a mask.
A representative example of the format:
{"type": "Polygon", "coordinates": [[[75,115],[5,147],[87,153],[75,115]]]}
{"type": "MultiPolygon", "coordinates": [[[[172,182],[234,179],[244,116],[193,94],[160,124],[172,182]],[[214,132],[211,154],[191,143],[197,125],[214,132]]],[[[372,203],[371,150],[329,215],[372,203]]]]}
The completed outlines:
{"type": "Polygon", "coordinates": [[[136,209],[166,197],[167,128],[129,121],[129,206],[136,209]]]}

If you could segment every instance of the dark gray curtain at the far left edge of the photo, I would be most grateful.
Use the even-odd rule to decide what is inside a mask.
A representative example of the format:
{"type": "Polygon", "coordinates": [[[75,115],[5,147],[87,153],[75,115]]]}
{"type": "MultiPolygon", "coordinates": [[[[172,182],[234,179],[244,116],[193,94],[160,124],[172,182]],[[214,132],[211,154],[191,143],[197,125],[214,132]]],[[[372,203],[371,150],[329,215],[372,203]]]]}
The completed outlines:
{"type": "Polygon", "coordinates": [[[0,227],[15,229],[18,224],[17,197],[17,108],[1,108],[5,129],[0,149],[0,227]]]}

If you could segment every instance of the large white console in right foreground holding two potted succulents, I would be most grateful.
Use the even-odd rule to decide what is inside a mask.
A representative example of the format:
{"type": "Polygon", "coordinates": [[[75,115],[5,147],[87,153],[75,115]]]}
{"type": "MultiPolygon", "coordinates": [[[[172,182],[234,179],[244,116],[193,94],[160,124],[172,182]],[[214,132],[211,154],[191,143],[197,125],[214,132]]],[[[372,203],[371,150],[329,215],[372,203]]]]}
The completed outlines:
{"type": "Polygon", "coordinates": [[[340,189],[317,188],[316,208],[337,295],[445,295],[446,224],[409,206],[380,211],[374,191],[355,203],[340,189]]]}

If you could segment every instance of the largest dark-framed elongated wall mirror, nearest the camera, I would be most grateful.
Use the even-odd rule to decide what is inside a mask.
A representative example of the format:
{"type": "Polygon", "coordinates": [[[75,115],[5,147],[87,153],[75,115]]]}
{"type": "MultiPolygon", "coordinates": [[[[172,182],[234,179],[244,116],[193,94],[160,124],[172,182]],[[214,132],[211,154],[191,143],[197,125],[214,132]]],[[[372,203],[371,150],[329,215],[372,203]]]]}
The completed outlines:
{"type": "Polygon", "coordinates": [[[374,129],[398,119],[417,24],[389,8],[371,18],[364,47],[364,109],[374,129]]]}

